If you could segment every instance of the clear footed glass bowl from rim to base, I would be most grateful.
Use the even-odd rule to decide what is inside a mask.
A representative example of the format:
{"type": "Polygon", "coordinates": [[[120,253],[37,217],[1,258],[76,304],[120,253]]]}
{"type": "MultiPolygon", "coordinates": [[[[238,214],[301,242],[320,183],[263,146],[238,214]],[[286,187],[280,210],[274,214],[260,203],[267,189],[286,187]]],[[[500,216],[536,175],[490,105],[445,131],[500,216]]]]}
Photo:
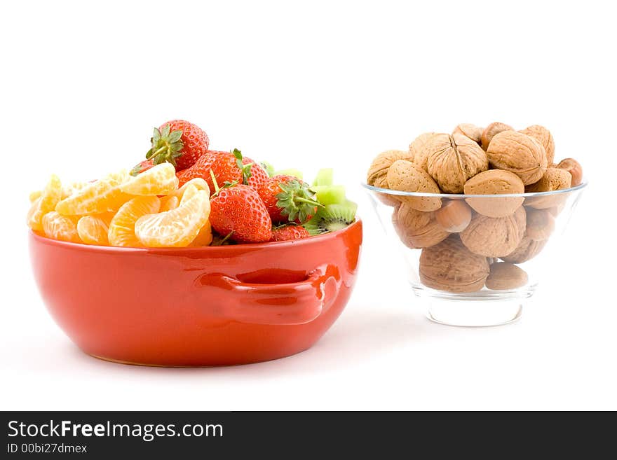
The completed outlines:
{"type": "Polygon", "coordinates": [[[520,318],[586,182],[510,195],[409,193],[362,183],[431,321],[498,326],[520,318]]]}

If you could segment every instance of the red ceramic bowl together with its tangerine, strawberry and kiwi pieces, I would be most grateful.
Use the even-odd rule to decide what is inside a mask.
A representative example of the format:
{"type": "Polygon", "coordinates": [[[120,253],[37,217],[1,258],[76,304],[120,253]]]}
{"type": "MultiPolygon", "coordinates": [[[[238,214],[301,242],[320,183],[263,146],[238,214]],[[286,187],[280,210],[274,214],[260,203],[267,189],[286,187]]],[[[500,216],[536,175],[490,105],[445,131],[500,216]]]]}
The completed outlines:
{"type": "MultiPolygon", "coordinates": [[[[313,184],[182,120],[126,171],[31,194],[32,267],[86,353],[143,365],[229,365],[311,347],[344,309],[362,223],[322,169],[313,184]]],[[[295,172],[295,174],[298,174],[295,172]]]]}

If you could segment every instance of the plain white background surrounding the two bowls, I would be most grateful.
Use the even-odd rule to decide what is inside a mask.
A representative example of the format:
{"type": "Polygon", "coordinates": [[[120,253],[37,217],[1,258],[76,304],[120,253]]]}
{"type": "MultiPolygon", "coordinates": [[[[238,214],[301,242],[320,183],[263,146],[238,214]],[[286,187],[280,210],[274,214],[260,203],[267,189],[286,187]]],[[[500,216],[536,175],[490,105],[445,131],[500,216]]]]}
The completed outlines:
{"type": "MultiPolygon", "coordinates": [[[[617,409],[614,12],[604,2],[8,2],[0,28],[2,409],[617,409]],[[27,193],[131,167],[186,118],[213,148],[360,202],[355,293],[310,349],[233,368],[117,365],[46,312],[27,193]],[[512,326],[430,323],[358,183],[424,131],[550,128],[591,186],[512,326]]],[[[609,4],[606,2],[606,4],[609,4]]],[[[87,307],[87,306],[84,306],[87,307]]]]}

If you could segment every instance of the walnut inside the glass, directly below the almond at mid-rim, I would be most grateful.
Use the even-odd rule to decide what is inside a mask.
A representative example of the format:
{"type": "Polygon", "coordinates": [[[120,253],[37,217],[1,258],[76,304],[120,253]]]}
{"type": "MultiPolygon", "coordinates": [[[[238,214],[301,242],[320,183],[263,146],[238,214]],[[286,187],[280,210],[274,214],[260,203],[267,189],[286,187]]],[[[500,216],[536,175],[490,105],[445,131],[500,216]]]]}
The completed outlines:
{"type": "Polygon", "coordinates": [[[473,253],[485,257],[506,256],[520,244],[525,233],[525,210],[519,207],[506,217],[476,214],[463,230],[461,242],[473,253]]]}

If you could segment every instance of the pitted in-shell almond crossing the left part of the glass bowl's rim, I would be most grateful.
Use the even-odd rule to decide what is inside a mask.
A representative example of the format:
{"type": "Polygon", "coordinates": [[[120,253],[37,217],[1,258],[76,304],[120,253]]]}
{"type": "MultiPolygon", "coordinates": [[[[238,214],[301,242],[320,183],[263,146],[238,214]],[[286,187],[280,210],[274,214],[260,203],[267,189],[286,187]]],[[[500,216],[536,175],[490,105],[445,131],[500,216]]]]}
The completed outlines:
{"type": "MultiPolygon", "coordinates": [[[[403,192],[440,193],[433,179],[414,163],[397,160],[388,168],[386,175],[388,188],[403,192]]],[[[409,204],[418,211],[435,211],[441,207],[440,197],[406,197],[400,195],[398,200],[409,204]]]]}

